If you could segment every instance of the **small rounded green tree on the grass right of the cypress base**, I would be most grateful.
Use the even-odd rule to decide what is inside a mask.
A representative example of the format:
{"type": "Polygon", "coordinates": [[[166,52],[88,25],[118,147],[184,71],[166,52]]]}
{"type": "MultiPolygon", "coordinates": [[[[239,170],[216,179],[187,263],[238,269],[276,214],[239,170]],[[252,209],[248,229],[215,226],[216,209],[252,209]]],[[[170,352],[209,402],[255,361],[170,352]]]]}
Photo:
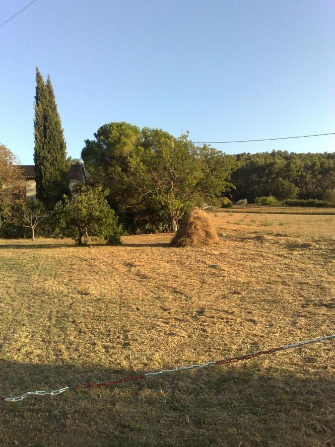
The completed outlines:
{"type": "Polygon", "coordinates": [[[108,191],[97,186],[81,188],[71,200],[64,196],[64,204],[58,202],[54,210],[56,236],[70,237],[78,245],[87,243],[88,236],[99,237],[109,244],[120,244],[122,228],[108,205],[107,195],[108,191]]]}

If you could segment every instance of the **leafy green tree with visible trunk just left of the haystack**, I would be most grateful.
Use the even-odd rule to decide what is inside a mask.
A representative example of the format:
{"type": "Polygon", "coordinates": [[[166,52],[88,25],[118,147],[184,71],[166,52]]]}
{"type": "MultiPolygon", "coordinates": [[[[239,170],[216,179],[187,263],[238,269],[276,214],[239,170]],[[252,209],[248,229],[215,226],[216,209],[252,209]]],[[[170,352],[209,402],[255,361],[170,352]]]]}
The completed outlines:
{"type": "Polygon", "coordinates": [[[185,213],[232,187],[233,160],[221,152],[197,147],[188,135],[171,139],[157,129],[143,129],[143,138],[146,171],[143,178],[134,179],[137,200],[162,210],[172,231],[185,213]]]}

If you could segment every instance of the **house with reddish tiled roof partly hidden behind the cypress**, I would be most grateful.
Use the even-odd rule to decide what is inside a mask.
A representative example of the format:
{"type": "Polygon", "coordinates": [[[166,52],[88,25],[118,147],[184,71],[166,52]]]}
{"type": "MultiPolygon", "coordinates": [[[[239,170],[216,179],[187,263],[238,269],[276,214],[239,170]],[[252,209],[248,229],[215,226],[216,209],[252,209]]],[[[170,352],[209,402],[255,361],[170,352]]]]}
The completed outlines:
{"type": "MultiPolygon", "coordinates": [[[[24,198],[36,200],[36,182],[35,182],[35,165],[21,164],[20,168],[23,173],[24,186],[20,190],[12,191],[13,199],[24,198]]],[[[84,166],[80,163],[71,164],[68,175],[70,178],[70,190],[78,183],[86,183],[84,166]]]]}

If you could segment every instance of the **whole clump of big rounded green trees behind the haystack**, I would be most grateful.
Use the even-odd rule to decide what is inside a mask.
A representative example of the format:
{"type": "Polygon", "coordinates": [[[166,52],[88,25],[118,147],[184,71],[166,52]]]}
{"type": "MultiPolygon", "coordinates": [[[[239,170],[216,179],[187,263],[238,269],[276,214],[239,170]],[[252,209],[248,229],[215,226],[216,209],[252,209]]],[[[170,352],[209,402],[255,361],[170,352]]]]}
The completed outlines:
{"type": "Polygon", "coordinates": [[[81,157],[95,181],[110,190],[110,203],[136,223],[175,231],[192,207],[232,187],[233,159],[187,135],[175,139],[160,129],[127,123],[102,126],[81,157]]]}

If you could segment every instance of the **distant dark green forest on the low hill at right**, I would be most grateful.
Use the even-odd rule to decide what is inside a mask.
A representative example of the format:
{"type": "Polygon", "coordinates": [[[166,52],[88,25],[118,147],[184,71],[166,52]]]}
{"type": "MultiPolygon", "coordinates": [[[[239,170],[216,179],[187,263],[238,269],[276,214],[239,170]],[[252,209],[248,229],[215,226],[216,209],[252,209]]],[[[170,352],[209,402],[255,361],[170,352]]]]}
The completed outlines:
{"type": "Polygon", "coordinates": [[[235,155],[232,199],[272,195],[275,198],[321,199],[335,188],[335,152],[295,153],[282,150],[235,155]]]}

